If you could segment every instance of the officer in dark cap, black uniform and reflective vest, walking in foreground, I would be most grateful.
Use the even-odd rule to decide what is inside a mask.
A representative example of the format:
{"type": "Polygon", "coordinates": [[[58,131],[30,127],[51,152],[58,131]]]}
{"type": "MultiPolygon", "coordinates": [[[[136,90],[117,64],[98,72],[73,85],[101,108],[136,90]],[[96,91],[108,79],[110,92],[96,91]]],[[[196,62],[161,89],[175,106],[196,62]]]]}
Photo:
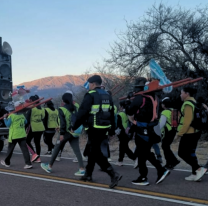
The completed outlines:
{"type": "Polygon", "coordinates": [[[115,134],[114,108],[111,96],[100,88],[102,79],[93,75],[88,79],[89,92],[84,96],[83,102],[77,113],[77,119],[71,132],[76,130],[86,120],[89,125],[88,143],[84,154],[88,156],[84,181],[92,180],[95,163],[111,177],[110,188],[114,188],[122,178],[114,171],[108,162],[108,134],[115,134]]]}

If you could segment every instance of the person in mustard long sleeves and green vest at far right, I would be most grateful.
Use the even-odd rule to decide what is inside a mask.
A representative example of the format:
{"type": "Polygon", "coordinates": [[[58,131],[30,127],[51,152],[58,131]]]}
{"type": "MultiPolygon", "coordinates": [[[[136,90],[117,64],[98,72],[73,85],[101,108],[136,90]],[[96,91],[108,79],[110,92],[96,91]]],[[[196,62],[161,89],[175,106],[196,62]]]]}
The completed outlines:
{"type": "Polygon", "coordinates": [[[201,136],[201,131],[196,130],[191,124],[194,119],[194,103],[196,100],[193,98],[193,95],[195,93],[196,89],[190,86],[185,86],[181,90],[181,100],[184,103],[181,107],[181,118],[175,141],[180,138],[178,155],[192,167],[192,174],[186,177],[185,180],[197,182],[206,173],[207,169],[198,164],[195,153],[201,136]]]}

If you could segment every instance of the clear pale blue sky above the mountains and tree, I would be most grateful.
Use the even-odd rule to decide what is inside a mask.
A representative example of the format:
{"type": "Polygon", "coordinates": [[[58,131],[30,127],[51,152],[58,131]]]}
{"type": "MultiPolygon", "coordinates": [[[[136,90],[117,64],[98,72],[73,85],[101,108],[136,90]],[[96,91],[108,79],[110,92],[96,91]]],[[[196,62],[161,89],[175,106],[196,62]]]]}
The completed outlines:
{"type": "MultiPolygon", "coordinates": [[[[0,37],[13,50],[13,84],[80,75],[108,56],[126,21],[157,0],[0,0],[0,37]]],[[[208,0],[167,0],[194,9],[208,0]]]]}

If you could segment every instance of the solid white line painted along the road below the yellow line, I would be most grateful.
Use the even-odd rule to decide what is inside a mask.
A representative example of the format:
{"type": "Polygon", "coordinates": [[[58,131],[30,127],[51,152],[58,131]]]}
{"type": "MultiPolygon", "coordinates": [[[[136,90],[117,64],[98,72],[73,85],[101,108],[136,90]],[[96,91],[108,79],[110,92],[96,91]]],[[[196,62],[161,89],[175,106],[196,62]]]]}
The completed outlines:
{"type": "Polygon", "coordinates": [[[143,197],[143,198],[171,202],[171,203],[177,203],[177,204],[183,204],[183,205],[205,206],[205,204],[192,203],[192,202],[187,202],[187,201],[169,199],[169,198],[164,198],[164,197],[156,197],[156,196],[138,194],[138,193],[133,193],[133,192],[125,192],[125,191],[121,191],[121,190],[107,189],[107,188],[95,187],[95,186],[90,186],[90,185],[82,185],[82,184],[73,183],[73,182],[64,182],[64,181],[60,181],[60,180],[52,180],[52,179],[34,177],[34,176],[29,176],[29,175],[20,175],[20,174],[1,172],[1,171],[0,171],[0,174],[11,175],[11,176],[16,176],[16,177],[23,177],[23,178],[28,178],[28,179],[41,180],[41,181],[47,181],[47,182],[53,182],[53,183],[59,183],[59,184],[65,184],[65,185],[71,185],[71,186],[76,186],[76,187],[101,190],[101,191],[106,191],[106,192],[113,192],[113,193],[117,193],[117,194],[125,194],[125,195],[131,195],[131,196],[136,196],[136,197],[143,197]]]}

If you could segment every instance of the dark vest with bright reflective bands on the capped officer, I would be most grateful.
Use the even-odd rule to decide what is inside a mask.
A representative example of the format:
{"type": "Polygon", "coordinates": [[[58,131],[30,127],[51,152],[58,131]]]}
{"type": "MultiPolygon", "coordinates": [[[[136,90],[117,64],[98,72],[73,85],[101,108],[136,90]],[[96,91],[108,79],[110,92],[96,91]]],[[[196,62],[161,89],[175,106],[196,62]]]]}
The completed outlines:
{"type": "Polygon", "coordinates": [[[99,128],[99,129],[110,128],[111,127],[110,109],[112,109],[112,106],[110,106],[110,101],[109,101],[110,96],[108,99],[106,99],[106,102],[103,103],[102,100],[100,100],[101,98],[100,95],[106,95],[108,94],[107,92],[106,94],[100,94],[96,90],[90,90],[88,93],[93,97],[93,105],[91,107],[90,118],[88,120],[89,124],[92,125],[94,128],[99,128]],[[103,116],[101,115],[100,109],[102,110],[103,116],[104,114],[108,113],[109,119],[103,118],[103,116]]]}

